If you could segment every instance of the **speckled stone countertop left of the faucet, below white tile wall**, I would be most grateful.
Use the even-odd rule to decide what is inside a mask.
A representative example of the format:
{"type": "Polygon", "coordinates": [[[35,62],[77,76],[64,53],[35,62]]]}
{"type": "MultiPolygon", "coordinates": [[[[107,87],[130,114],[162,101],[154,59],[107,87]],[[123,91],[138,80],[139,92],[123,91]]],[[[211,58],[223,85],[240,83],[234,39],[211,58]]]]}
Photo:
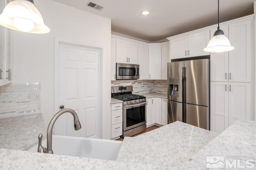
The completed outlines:
{"type": "Polygon", "coordinates": [[[46,139],[47,128],[41,113],[0,119],[0,148],[28,150],[38,144],[38,135],[46,139]]]}

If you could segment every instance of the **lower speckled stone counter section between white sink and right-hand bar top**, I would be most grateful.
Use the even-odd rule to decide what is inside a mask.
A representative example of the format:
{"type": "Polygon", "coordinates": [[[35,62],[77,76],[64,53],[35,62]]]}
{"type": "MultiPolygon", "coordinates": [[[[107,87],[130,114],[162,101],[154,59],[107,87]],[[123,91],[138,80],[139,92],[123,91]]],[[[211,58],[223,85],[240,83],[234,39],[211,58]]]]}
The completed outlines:
{"type": "Polygon", "coordinates": [[[176,121],[137,137],[124,137],[116,161],[179,168],[217,135],[176,121]]]}

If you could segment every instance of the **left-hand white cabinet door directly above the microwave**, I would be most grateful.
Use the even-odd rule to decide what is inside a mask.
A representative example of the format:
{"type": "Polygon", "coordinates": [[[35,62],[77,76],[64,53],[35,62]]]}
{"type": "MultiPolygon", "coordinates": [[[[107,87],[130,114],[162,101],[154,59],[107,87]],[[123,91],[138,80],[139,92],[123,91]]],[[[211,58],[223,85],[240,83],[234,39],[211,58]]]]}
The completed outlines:
{"type": "Polygon", "coordinates": [[[128,63],[128,43],[126,40],[116,39],[116,63],[128,63]]]}

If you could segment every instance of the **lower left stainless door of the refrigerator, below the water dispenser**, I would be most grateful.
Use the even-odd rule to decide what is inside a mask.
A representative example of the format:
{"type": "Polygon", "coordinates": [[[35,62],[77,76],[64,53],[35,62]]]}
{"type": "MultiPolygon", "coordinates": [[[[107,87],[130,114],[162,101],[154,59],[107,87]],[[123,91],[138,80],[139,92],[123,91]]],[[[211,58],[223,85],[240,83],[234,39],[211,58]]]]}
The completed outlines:
{"type": "Polygon", "coordinates": [[[168,100],[168,124],[174,121],[182,122],[183,104],[179,102],[172,102],[168,100]]]}

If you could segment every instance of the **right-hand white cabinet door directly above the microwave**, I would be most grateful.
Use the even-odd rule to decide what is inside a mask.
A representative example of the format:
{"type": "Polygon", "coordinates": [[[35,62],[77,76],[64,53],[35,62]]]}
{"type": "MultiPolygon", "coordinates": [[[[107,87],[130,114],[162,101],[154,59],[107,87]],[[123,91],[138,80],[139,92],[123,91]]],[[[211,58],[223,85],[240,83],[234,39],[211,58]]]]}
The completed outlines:
{"type": "Polygon", "coordinates": [[[128,63],[138,64],[138,43],[127,42],[128,63]]]}

